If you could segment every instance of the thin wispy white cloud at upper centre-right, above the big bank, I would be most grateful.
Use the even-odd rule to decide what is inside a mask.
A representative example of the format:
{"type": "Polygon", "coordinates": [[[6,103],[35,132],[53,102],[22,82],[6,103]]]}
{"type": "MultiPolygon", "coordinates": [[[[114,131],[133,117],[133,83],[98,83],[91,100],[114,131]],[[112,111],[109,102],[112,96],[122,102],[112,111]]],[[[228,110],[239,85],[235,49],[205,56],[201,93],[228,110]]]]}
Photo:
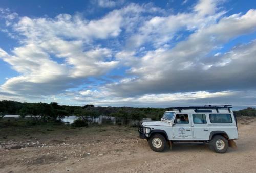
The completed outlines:
{"type": "Polygon", "coordinates": [[[137,48],[149,43],[156,48],[162,47],[173,41],[180,30],[201,30],[215,24],[226,12],[221,11],[209,16],[202,16],[199,13],[200,11],[196,11],[152,17],[144,21],[138,31],[127,40],[127,47],[137,48]]]}

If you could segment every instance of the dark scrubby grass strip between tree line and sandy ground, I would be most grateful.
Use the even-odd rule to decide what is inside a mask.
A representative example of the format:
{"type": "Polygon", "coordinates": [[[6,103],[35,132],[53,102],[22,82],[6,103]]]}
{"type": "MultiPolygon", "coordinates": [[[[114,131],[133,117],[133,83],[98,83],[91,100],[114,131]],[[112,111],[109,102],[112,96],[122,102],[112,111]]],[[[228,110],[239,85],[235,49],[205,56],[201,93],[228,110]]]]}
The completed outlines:
{"type": "Polygon", "coordinates": [[[137,135],[137,128],[130,125],[89,125],[88,127],[73,127],[63,123],[36,123],[33,124],[27,119],[2,119],[0,121],[0,142],[13,140],[45,140],[53,139],[63,140],[68,137],[84,137],[84,136],[112,136],[112,135],[127,135],[134,133],[137,135]]]}

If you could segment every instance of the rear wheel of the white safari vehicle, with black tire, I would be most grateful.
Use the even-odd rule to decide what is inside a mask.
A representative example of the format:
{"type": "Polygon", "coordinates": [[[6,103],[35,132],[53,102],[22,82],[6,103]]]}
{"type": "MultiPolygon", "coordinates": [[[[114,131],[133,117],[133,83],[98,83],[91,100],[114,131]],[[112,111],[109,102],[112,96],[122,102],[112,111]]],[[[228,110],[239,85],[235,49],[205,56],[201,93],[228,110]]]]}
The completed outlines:
{"type": "Polygon", "coordinates": [[[215,135],[209,141],[209,148],[215,151],[216,153],[225,153],[228,148],[227,139],[221,135],[215,135]]]}

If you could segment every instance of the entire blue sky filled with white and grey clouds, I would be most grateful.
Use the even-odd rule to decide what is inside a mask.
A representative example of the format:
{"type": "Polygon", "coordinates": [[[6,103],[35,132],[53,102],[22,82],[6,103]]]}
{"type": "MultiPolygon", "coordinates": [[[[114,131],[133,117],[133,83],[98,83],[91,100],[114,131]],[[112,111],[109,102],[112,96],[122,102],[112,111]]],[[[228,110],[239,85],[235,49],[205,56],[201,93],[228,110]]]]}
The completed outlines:
{"type": "Polygon", "coordinates": [[[0,100],[256,106],[256,1],[0,2],[0,100]]]}

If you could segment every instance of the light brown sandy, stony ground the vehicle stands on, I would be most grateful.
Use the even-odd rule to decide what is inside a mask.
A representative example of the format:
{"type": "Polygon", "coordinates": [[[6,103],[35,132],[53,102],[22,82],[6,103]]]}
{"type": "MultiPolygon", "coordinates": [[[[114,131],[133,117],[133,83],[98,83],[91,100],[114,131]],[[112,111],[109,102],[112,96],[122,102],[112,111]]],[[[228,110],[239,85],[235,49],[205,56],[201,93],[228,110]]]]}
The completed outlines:
{"type": "Polygon", "coordinates": [[[0,142],[0,172],[256,172],[256,120],[239,120],[238,149],[174,144],[157,153],[135,128],[103,126],[0,142]]]}

